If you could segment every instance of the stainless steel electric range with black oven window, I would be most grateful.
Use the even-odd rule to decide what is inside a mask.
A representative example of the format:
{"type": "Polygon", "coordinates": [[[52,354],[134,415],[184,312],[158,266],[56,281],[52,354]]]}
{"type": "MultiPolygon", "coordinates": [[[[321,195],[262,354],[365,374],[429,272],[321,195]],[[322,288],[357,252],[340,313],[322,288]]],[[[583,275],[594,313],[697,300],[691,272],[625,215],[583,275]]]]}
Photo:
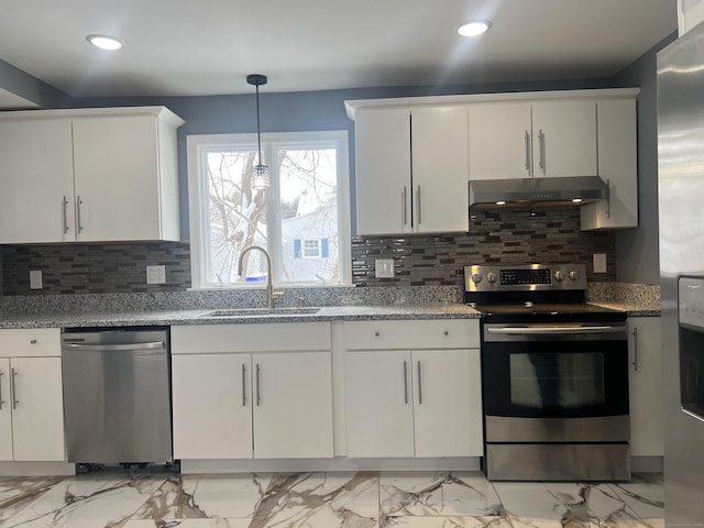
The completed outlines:
{"type": "Polygon", "coordinates": [[[490,480],[628,480],[626,314],[585,301],[583,265],[468,266],[482,312],[490,480]]]}

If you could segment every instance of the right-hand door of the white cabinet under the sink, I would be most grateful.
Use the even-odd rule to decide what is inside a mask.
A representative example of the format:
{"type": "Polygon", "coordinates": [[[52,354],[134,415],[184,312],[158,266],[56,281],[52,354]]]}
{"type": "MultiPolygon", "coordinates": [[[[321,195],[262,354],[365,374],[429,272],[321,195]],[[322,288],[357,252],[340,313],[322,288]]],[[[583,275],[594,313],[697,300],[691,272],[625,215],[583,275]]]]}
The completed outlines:
{"type": "Polygon", "coordinates": [[[332,458],[329,352],[253,354],[254,458],[332,458]]]}

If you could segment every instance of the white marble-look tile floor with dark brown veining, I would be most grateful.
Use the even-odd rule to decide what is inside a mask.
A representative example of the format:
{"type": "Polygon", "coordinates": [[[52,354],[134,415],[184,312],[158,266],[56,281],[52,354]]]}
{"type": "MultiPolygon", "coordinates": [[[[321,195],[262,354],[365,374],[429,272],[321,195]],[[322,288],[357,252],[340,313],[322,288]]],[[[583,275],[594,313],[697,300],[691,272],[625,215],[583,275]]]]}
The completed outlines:
{"type": "Polygon", "coordinates": [[[661,475],[487,482],[481,473],[90,473],[0,479],[0,527],[662,528],[661,475]]]}

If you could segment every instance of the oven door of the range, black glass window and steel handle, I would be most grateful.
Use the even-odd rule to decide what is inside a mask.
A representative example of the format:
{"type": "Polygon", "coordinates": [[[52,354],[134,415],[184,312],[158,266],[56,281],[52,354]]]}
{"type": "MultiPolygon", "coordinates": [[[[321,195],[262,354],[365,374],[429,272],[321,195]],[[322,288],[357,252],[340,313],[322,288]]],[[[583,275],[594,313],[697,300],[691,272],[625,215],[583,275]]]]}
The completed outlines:
{"type": "Polygon", "coordinates": [[[482,341],[487,441],[628,440],[624,322],[484,323],[482,341]]]}

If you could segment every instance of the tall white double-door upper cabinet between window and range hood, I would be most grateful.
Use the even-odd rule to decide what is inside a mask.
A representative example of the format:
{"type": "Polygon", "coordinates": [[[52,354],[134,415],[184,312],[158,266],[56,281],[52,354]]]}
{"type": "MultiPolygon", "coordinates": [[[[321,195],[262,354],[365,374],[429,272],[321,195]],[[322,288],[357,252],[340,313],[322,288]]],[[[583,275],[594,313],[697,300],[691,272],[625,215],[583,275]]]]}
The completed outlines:
{"type": "Polygon", "coordinates": [[[469,125],[461,107],[355,111],[359,234],[469,229],[469,125]]]}

